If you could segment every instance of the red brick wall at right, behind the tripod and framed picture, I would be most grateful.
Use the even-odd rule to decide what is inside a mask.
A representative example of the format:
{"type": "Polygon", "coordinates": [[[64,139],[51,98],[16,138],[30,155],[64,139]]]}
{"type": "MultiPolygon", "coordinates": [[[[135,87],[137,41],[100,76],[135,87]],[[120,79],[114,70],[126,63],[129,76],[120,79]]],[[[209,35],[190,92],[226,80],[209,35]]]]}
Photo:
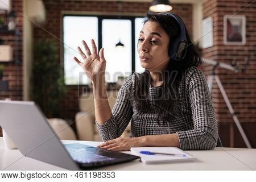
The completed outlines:
{"type": "MultiPolygon", "coordinates": [[[[220,77],[229,100],[233,106],[237,117],[242,123],[251,145],[255,148],[255,128],[256,128],[256,3],[249,7],[247,5],[253,1],[220,1],[210,0],[203,4],[203,18],[212,16],[213,18],[213,39],[214,46],[203,50],[204,57],[217,60],[226,64],[231,61],[237,61],[243,65],[247,55],[251,56],[250,67],[246,73],[234,73],[226,69],[217,69],[216,73],[220,77]],[[242,10],[243,9],[243,10],[242,10]],[[239,12],[238,12],[239,11],[239,12]],[[245,46],[225,46],[224,39],[224,15],[245,15],[246,16],[246,44],[245,46]]],[[[205,66],[204,71],[209,75],[209,70],[212,67],[205,66]]],[[[217,120],[219,125],[220,137],[223,140],[224,146],[230,147],[246,147],[240,133],[234,124],[232,116],[229,114],[228,107],[225,104],[222,95],[213,85],[213,101],[216,107],[217,120]]]]}

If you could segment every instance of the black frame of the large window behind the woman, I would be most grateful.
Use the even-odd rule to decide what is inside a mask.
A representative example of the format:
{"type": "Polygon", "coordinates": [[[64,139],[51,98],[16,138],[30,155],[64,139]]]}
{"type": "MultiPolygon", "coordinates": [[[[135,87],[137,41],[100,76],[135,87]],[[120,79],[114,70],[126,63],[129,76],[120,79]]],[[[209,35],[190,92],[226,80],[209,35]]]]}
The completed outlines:
{"type": "MultiPolygon", "coordinates": [[[[61,15],[61,40],[62,44],[60,46],[60,55],[61,55],[61,64],[63,66],[64,72],[64,17],[65,16],[90,16],[98,18],[98,50],[102,48],[102,20],[104,19],[121,19],[121,20],[131,20],[131,74],[135,72],[135,18],[144,18],[143,15],[98,15],[98,14],[76,14],[76,13],[63,13],[61,15]]],[[[65,74],[65,72],[64,72],[65,74]]],[[[113,85],[115,82],[107,82],[106,84],[113,85]]],[[[81,85],[68,85],[65,83],[65,86],[88,86],[89,84],[81,85]]]]}

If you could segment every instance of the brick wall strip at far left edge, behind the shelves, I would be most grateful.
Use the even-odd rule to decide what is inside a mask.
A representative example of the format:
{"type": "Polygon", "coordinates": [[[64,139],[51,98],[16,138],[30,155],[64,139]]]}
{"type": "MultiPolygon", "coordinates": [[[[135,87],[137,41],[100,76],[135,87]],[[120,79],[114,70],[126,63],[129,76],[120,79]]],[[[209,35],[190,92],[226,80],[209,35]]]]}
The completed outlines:
{"type": "MultiPolygon", "coordinates": [[[[22,0],[13,0],[11,5],[13,5],[13,9],[16,11],[15,14],[18,22],[17,27],[20,31],[18,48],[18,57],[20,63],[15,64],[14,61],[8,63],[0,62],[0,65],[4,65],[5,67],[3,71],[3,80],[9,80],[9,91],[0,91],[0,100],[4,100],[5,98],[11,98],[11,100],[22,100],[22,0]]],[[[13,52],[15,52],[16,47],[14,34],[0,34],[0,38],[5,40],[6,45],[11,45],[13,52]]],[[[13,57],[15,57],[15,55],[13,55],[13,57]]],[[[1,127],[0,136],[2,136],[1,127]]]]}

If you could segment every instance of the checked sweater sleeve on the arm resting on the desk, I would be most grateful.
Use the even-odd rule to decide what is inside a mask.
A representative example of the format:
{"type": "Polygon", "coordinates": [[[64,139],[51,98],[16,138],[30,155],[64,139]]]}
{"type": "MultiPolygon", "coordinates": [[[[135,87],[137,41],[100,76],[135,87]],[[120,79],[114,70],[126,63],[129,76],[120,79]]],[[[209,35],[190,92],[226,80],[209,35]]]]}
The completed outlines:
{"type": "Polygon", "coordinates": [[[178,131],[182,150],[212,150],[218,138],[217,120],[207,81],[200,69],[187,81],[194,129],[178,131]]]}

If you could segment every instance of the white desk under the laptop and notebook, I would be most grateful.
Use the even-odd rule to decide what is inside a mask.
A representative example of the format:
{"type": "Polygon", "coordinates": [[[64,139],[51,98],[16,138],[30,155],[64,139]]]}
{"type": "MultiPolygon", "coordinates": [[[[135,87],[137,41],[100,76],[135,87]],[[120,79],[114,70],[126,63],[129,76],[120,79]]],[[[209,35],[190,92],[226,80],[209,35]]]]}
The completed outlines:
{"type": "MultiPolygon", "coordinates": [[[[63,143],[83,143],[97,146],[101,142],[63,140],[63,143]]],[[[256,149],[215,148],[210,151],[187,151],[196,157],[194,162],[143,164],[139,160],[97,168],[97,170],[255,170],[256,149]]],[[[130,153],[130,152],[127,152],[130,153]]],[[[51,164],[22,156],[18,150],[6,150],[0,137],[1,170],[65,170],[51,164]]]]}

